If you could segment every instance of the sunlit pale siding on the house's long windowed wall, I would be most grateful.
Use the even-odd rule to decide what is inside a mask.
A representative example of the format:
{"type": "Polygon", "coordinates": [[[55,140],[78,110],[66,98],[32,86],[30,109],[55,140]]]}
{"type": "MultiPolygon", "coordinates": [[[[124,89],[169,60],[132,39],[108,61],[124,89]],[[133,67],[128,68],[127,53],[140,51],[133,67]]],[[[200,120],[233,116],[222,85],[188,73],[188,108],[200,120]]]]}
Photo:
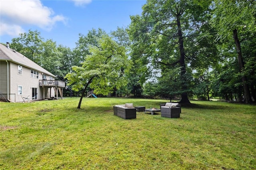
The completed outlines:
{"type": "MultiPolygon", "coordinates": [[[[42,74],[39,72],[39,78],[31,77],[30,68],[22,67],[22,75],[18,74],[18,64],[10,63],[10,93],[15,94],[15,99],[10,99],[15,102],[22,102],[22,97],[32,98],[32,88],[37,88],[37,99],[43,99],[43,88],[39,86],[39,80],[42,80],[42,74]],[[18,86],[22,86],[22,95],[18,94],[18,86]]],[[[47,76],[48,78],[48,76],[47,76]]],[[[54,89],[51,88],[52,95],[54,89]]],[[[46,96],[50,96],[50,89],[45,88],[46,96]]],[[[13,96],[14,97],[14,96],[13,96]]]]}

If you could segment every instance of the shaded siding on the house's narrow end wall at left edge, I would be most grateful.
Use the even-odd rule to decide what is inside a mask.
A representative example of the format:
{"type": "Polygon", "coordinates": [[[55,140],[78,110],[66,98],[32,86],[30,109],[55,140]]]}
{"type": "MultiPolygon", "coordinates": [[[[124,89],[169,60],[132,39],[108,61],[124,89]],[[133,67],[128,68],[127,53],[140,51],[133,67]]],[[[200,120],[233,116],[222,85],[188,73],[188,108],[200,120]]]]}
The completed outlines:
{"type": "Polygon", "coordinates": [[[0,61],[0,93],[7,99],[7,62],[0,61]]]}

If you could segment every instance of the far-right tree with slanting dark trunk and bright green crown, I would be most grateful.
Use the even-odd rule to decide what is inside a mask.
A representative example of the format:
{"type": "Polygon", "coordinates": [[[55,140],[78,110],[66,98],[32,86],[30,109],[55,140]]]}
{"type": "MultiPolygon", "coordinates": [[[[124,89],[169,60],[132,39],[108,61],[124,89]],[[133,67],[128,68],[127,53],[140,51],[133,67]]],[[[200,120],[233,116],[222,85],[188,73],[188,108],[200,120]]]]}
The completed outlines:
{"type": "MultiPolygon", "coordinates": [[[[256,1],[254,0],[214,0],[213,27],[218,30],[220,40],[233,40],[237,61],[241,72],[246,103],[252,102],[248,76],[241,42],[256,36],[256,1]]],[[[255,42],[254,42],[255,43],[255,42]]],[[[247,49],[252,52],[253,48],[247,49]]],[[[248,72],[248,71],[247,71],[248,72]]]]}

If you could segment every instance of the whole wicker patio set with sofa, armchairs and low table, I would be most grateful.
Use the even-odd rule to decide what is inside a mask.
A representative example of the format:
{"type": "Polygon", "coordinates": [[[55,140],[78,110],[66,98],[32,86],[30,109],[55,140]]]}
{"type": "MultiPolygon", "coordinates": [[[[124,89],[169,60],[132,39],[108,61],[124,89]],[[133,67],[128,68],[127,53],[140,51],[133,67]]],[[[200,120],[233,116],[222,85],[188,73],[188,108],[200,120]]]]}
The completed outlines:
{"type": "Polygon", "coordinates": [[[161,117],[179,118],[181,113],[181,105],[179,103],[164,103],[160,104],[161,109],[150,108],[145,109],[144,106],[134,107],[133,103],[113,106],[114,115],[123,119],[136,119],[136,112],[150,112],[154,115],[156,112],[161,112],[161,117]]]}

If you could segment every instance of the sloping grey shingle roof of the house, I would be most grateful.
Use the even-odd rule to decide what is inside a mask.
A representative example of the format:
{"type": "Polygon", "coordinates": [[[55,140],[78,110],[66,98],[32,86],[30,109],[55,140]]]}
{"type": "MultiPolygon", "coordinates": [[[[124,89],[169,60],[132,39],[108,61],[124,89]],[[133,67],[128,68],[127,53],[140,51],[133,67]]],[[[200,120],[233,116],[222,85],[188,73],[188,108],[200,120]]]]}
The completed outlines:
{"type": "Polygon", "coordinates": [[[5,45],[0,44],[0,60],[7,60],[7,61],[12,61],[14,63],[17,63],[19,65],[22,65],[24,67],[28,67],[30,69],[34,69],[38,72],[50,75],[52,77],[56,77],[40,65],[34,63],[21,53],[18,53],[17,51],[7,48],[5,45]]]}

